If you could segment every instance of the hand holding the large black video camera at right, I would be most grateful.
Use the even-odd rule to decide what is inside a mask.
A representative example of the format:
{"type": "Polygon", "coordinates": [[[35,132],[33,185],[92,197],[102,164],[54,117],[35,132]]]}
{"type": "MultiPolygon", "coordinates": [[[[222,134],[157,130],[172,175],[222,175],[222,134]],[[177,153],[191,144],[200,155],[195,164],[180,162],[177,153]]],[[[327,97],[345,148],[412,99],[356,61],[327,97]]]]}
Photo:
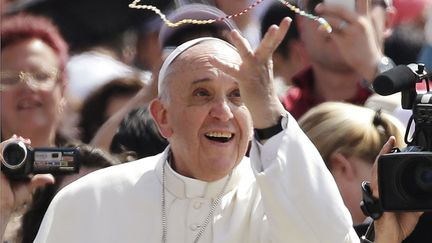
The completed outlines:
{"type": "MultiPolygon", "coordinates": [[[[389,138],[381,149],[372,169],[371,189],[373,196],[379,198],[378,193],[378,157],[389,153],[395,145],[395,138],[389,138]]],[[[375,220],[375,243],[395,243],[402,242],[414,230],[422,212],[384,212],[383,215],[375,220]]]]}

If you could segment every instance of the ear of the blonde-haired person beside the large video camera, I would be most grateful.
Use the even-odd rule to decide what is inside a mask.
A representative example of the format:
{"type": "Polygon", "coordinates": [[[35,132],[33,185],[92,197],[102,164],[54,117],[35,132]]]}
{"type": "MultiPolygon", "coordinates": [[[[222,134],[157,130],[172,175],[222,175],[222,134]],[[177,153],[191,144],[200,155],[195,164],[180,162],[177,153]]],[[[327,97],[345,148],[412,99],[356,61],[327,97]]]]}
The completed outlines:
{"type": "Polygon", "coordinates": [[[351,181],[355,179],[355,169],[350,160],[341,153],[333,153],[330,156],[329,168],[335,178],[351,181]]]}

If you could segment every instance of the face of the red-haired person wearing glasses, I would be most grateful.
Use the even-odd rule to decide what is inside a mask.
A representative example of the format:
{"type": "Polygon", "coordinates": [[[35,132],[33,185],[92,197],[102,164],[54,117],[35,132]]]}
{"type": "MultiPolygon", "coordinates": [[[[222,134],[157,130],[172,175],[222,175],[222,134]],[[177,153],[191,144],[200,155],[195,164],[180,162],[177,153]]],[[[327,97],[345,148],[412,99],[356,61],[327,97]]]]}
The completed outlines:
{"type": "Polygon", "coordinates": [[[1,52],[2,72],[25,72],[34,77],[52,76],[51,87],[29,85],[36,83],[32,75],[6,90],[1,91],[2,137],[13,134],[32,140],[33,146],[53,145],[56,126],[60,118],[60,101],[63,83],[52,73],[59,69],[59,59],[53,49],[37,39],[17,42],[1,52]],[[43,138],[43,139],[42,139],[43,138]],[[45,140],[45,142],[40,142],[45,140]],[[51,140],[51,141],[49,141],[51,140]]]}

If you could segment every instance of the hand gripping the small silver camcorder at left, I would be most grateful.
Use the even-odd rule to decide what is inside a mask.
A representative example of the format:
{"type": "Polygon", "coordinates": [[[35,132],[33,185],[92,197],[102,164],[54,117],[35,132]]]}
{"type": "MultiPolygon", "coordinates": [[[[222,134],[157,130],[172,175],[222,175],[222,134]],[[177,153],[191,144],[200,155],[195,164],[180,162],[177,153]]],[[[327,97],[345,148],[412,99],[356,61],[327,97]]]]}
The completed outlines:
{"type": "MultiPolygon", "coordinates": [[[[30,141],[17,137],[14,135],[12,138],[0,143],[0,151],[3,151],[3,146],[10,141],[23,141],[27,144],[30,141]]],[[[0,153],[0,160],[3,162],[3,157],[0,153]]],[[[54,183],[54,177],[49,174],[35,175],[30,181],[10,181],[3,172],[0,173],[0,239],[3,239],[4,231],[12,213],[29,203],[32,198],[33,191],[43,185],[54,183]]]]}

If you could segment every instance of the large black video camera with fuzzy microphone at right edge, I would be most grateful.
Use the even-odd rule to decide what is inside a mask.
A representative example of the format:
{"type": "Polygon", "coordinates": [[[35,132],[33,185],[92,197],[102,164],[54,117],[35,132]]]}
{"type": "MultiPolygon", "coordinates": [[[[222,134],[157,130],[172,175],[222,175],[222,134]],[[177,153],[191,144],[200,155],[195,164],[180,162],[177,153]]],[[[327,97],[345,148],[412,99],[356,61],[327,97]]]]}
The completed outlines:
{"type": "Polygon", "coordinates": [[[392,153],[378,158],[379,195],[384,211],[432,210],[431,76],[423,64],[399,65],[373,82],[380,95],[401,92],[402,108],[412,110],[405,132],[407,147],[394,148],[392,153]],[[426,92],[419,94],[416,84],[422,82],[426,83],[426,92]]]}

